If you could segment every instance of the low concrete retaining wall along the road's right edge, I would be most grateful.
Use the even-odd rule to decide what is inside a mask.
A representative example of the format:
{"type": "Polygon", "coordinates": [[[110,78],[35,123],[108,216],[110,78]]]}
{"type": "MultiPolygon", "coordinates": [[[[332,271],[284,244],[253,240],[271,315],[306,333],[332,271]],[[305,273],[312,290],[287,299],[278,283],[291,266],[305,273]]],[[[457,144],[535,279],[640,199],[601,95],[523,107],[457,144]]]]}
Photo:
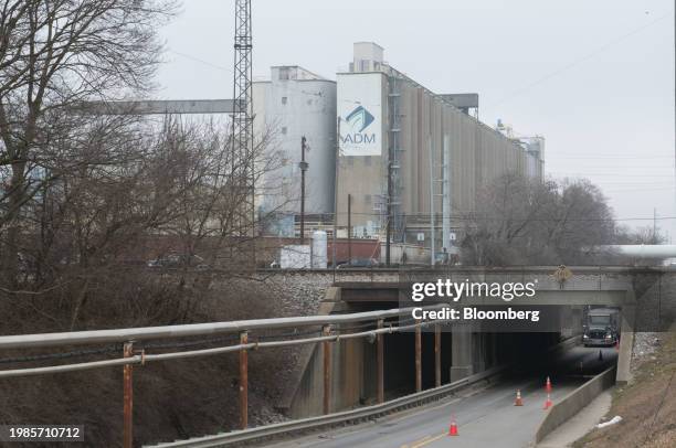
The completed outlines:
{"type": "Polygon", "coordinates": [[[554,404],[536,433],[536,444],[589,405],[603,391],[615,384],[615,366],[588,381],[554,404]]]}

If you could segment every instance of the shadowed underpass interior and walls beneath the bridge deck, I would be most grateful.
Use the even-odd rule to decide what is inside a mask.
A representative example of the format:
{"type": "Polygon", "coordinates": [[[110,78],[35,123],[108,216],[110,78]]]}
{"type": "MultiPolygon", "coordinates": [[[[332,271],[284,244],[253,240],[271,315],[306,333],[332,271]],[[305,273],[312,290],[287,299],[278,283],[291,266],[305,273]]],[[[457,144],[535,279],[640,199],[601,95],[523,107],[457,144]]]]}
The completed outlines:
{"type": "MultiPolygon", "coordinates": [[[[392,303],[380,303],[378,307],[391,309],[392,303]]],[[[349,307],[350,312],[372,310],[374,307],[349,307]]],[[[394,322],[395,323],[395,322],[394,322]]],[[[345,329],[342,329],[345,330],[345,329]]],[[[580,334],[572,337],[574,344],[579,344],[580,334]]],[[[536,376],[584,376],[591,374],[590,367],[598,355],[593,349],[575,352],[581,356],[584,353],[583,369],[567,371],[567,362],[554,363],[559,353],[551,353],[557,344],[567,337],[561,332],[534,333],[486,333],[472,329],[464,331],[442,331],[440,334],[440,375],[441,384],[448,384],[469,375],[484,372],[488,369],[509,365],[509,376],[515,378],[530,378],[536,376]],[[590,355],[593,353],[593,355],[590,355]],[[553,364],[552,364],[553,363],[553,364]],[[549,365],[557,365],[550,369],[549,365]]],[[[567,345],[570,345],[568,343],[567,345]]],[[[307,348],[308,361],[299,383],[291,415],[295,418],[309,417],[321,414],[323,361],[318,348],[307,348]]],[[[384,399],[389,401],[416,392],[415,377],[415,333],[385,334],[383,337],[384,352],[384,399]]],[[[339,412],[363,405],[377,403],[377,354],[376,343],[372,339],[355,339],[339,341],[332,349],[331,375],[331,410],[339,412]]],[[[617,352],[603,350],[601,365],[609,360],[616,361],[617,352]]],[[[567,361],[568,360],[568,361],[567,361]]],[[[422,390],[430,390],[436,385],[435,334],[433,331],[421,333],[421,380],[422,390]]],[[[598,373],[598,372],[596,372],[598,373]]]]}

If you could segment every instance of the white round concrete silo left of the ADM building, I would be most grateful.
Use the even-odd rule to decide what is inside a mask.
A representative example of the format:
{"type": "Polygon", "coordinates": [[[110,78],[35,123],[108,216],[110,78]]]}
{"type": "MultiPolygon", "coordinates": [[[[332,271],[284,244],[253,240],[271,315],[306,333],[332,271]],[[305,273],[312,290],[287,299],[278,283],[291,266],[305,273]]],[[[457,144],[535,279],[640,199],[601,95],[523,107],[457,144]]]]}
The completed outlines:
{"type": "Polygon", "coordinates": [[[300,140],[306,138],[305,212],[334,213],[336,184],[336,82],[303,67],[276,66],[271,79],[253,83],[254,132],[266,136],[268,159],[278,167],[265,173],[260,210],[271,214],[268,233],[294,236],[300,211],[300,140]]]}

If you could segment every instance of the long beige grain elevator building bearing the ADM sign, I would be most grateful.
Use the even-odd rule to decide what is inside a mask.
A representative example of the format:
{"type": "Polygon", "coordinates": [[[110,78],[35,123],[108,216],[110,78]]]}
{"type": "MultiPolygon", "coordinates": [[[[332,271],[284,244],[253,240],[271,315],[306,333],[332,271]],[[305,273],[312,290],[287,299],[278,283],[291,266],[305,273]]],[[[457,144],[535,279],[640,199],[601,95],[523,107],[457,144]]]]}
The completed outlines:
{"type": "Polygon", "coordinates": [[[350,199],[355,235],[382,237],[392,216],[394,242],[429,241],[434,228],[435,246],[451,247],[456,217],[475,209],[483,185],[506,172],[542,175],[541,150],[471,115],[478,96],[472,104],[471,95],[430,92],[388,65],[374,43],[355,44],[337,83],[338,223],[347,225],[350,199]]]}

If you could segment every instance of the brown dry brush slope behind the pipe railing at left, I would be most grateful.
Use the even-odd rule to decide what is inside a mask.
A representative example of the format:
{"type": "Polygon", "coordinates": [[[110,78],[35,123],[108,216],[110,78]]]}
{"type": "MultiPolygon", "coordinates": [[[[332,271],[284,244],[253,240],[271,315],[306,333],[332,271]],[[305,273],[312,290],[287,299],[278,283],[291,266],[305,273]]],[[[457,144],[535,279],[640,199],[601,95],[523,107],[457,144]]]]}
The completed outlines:
{"type": "MultiPolygon", "coordinates": [[[[119,286],[118,291],[106,295],[101,292],[104,289],[99,289],[82,307],[77,330],[267,318],[283,313],[275,303],[277,291],[271,291],[263,284],[247,286],[241,281],[221,280],[216,287],[197,297],[191,294],[190,287],[179,288],[180,292],[177,292],[176,285],[168,287],[168,281],[162,279],[161,289],[154,289],[148,284],[138,288],[134,285],[119,286]],[[133,286],[139,292],[129,297],[128,291],[133,286]]],[[[4,302],[0,309],[6,312],[11,310],[12,314],[0,323],[2,333],[63,331],[67,326],[72,308],[59,307],[56,300],[53,303],[35,302],[34,306],[47,310],[50,318],[41,319],[30,311],[31,308],[4,302]]],[[[0,359],[21,354],[30,353],[0,353],[0,359]]],[[[109,356],[119,358],[120,354],[115,352],[109,356]]],[[[47,364],[93,359],[55,360],[47,364]]],[[[293,353],[288,350],[252,352],[249,398],[252,426],[282,418],[274,406],[288,380],[292,363],[293,353]]],[[[226,354],[135,367],[135,446],[233,429],[239,420],[237,365],[236,354],[226,354]]],[[[0,367],[21,366],[29,364],[4,364],[0,367]]],[[[80,446],[119,447],[122,371],[118,367],[2,380],[0,424],[84,424],[86,441],[80,446]]],[[[18,446],[21,445],[11,444],[11,447],[18,446]]],[[[35,448],[49,445],[33,442],[25,446],[35,448]]]]}

